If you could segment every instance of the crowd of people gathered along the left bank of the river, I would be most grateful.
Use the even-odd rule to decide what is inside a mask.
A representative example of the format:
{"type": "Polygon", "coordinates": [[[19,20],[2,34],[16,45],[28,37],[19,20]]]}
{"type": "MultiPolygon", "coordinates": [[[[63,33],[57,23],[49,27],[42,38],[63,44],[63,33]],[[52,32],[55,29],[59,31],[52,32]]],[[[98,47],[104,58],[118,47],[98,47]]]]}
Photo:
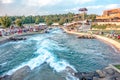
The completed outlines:
{"type": "Polygon", "coordinates": [[[40,30],[44,30],[46,27],[45,26],[28,26],[28,27],[10,27],[6,29],[0,29],[0,36],[10,36],[13,34],[22,34],[22,33],[27,33],[27,32],[37,32],[40,30]]]}

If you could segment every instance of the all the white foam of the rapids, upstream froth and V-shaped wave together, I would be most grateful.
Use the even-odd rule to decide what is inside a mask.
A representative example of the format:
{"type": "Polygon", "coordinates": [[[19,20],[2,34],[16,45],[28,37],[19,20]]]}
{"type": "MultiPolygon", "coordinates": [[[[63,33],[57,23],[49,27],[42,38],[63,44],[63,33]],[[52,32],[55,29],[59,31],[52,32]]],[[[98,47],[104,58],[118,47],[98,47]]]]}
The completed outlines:
{"type": "Polygon", "coordinates": [[[7,74],[11,75],[13,72],[26,65],[28,65],[31,68],[31,70],[33,70],[34,68],[39,67],[43,63],[47,63],[56,72],[64,71],[67,66],[74,69],[74,67],[71,66],[67,61],[63,59],[58,59],[55,53],[51,52],[51,50],[53,49],[60,48],[55,41],[42,37],[33,37],[30,38],[29,40],[30,41],[35,40],[37,42],[36,44],[37,51],[34,52],[34,54],[38,54],[38,56],[32,58],[28,62],[24,62],[21,65],[16,66],[14,69],[8,71],[7,74]]]}

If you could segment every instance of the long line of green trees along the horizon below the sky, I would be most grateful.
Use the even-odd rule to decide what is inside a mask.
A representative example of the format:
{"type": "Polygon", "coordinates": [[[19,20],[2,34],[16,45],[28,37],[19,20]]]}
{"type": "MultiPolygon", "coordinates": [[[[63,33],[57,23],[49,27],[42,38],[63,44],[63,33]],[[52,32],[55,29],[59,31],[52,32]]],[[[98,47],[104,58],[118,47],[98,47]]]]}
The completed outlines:
{"type": "MultiPolygon", "coordinates": [[[[4,16],[0,18],[0,23],[3,27],[9,27],[11,22],[15,22],[17,26],[22,26],[22,24],[39,24],[39,23],[46,23],[47,25],[51,25],[52,23],[59,23],[63,25],[64,23],[69,23],[72,21],[82,20],[82,14],[74,14],[74,13],[67,13],[67,14],[55,14],[55,15],[37,15],[37,16],[4,16]],[[77,15],[77,16],[76,16],[77,15]]],[[[97,15],[95,14],[85,14],[85,19],[91,19],[92,21],[95,20],[97,15]]]]}

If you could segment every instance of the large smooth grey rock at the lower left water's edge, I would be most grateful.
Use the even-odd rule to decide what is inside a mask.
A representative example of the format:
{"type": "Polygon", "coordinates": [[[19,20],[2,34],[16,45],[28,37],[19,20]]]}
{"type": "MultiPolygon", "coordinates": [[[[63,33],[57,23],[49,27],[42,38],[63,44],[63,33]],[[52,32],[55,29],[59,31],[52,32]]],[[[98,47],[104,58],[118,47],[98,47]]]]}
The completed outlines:
{"type": "Polygon", "coordinates": [[[12,74],[11,80],[24,80],[31,72],[29,66],[24,66],[12,74]]]}

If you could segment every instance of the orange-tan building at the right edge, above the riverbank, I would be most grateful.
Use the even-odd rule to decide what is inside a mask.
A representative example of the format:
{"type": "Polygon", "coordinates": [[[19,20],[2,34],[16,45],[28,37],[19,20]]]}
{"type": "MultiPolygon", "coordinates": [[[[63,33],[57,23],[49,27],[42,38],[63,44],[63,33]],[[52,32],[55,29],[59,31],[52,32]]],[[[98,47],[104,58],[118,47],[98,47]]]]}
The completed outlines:
{"type": "Polygon", "coordinates": [[[101,16],[97,16],[95,22],[98,25],[114,24],[120,25],[120,8],[105,10],[101,16]]]}

